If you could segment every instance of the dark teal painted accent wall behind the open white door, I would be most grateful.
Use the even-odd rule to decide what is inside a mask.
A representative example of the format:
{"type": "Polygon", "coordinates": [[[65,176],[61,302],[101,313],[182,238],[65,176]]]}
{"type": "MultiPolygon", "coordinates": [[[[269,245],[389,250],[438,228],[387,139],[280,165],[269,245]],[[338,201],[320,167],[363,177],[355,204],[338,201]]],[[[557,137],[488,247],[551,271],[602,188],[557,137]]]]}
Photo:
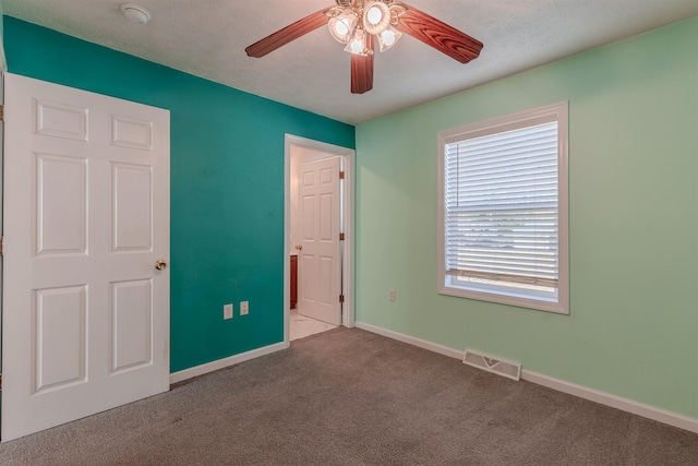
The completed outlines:
{"type": "Polygon", "coordinates": [[[354,128],[10,16],[4,47],[11,73],[170,110],[170,370],[282,342],[285,133],[354,128]]]}

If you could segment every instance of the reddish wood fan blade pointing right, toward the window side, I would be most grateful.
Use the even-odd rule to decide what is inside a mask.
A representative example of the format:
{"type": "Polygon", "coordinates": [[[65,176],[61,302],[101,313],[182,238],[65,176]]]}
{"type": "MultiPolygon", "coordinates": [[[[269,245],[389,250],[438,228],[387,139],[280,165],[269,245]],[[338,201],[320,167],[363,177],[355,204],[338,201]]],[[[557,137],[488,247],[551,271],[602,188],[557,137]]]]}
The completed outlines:
{"type": "Polygon", "coordinates": [[[400,16],[397,28],[461,63],[478,58],[483,47],[480,40],[411,5],[400,16]]]}

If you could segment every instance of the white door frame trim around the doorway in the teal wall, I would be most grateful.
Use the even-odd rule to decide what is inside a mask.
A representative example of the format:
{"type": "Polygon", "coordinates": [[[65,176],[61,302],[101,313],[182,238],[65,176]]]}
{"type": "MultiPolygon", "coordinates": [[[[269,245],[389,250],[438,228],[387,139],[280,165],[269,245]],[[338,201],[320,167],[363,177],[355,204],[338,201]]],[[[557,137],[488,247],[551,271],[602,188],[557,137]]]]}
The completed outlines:
{"type": "MultiPolygon", "coordinates": [[[[286,134],[284,151],[284,346],[291,344],[291,251],[289,238],[291,235],[291,146],[306,147],[326,152],[344,159],[345,179],[342,183],[342,224],[345,240],[341,246],[341,289],[345,302],[341,312],[341,324],[352,328],[354,326],[353,307],[353,265],[354,265],[354,167],[357,152],[352,148],[313,141],[305,138],[286,134]]],[[[339,299],[339,297],[337,297],[339,299]]]]}

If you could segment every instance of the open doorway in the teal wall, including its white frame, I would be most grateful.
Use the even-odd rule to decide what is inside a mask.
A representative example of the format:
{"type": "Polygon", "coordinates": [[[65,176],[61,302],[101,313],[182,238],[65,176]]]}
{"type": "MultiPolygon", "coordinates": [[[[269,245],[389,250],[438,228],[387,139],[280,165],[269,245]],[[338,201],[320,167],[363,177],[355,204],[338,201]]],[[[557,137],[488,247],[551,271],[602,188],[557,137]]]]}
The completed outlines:
{"type": "Polygon", "coordinates": [[[329,330],[335,327],[336,324],[353,327],[354,157],[356,152],[347,147],[290,134],[286,135],[284,247],[284,342],[286,346],[290,345],[291,340],[291,319],[294,322],[301,319],[318,319],[315,321],[315,327],[320,330],[329,330]],[[327,187],[335,181],[330,179],[330,175],[335,174],[335,168],[330,169],[330,167],[335,166],[338,167],[336,169],[337,178],[340,176],[339,171],[342,172],[342,179],[339,180],[339,191],[336,192],[338,195],[335,195],[334,191],[327,191],[327,187]],[[317,189],[313,188],[314,182],[318,180],[323,181],[323,186],[317,189]],[[301,195],[302,190],[305,191],[301,195]],[[317,201],[317,199],[322,199],[322,201],[317,201]],[[336,208],[330,207],[330,205],[335,205],[333,204],[334,202],[336,202],[336,208]],[[317,214],[321,210],[325,212],[323,215],[332,212],[332,222],[325,219],[326,227],[322,229],[315,228],[315,231],[320,232],[315,235],[308,234],[310,230],[308,225],[318,222],[312,215],[309,216],[309,212],[317,214]],[[302,217],[303,215],[305,216],[302,217]],[[303,222],[306,224],[305,227],[302,225],[303,222]],[[341,237],[340,232],[342,234],[341,237]],[[318,238],[322,241],[315,241],[318,238]],[[334,242],[329,241],[329,239],[333,239],[334,242]],[[336,248],[334,249],[335,252],[328,252],[328,247],[336,248]],[[321,255],[324,259],[323,261],[317,260],[321,255]],[[327,260],[335,255],[336,263],[334,260],[327,260]],[[301,309],[301,312],[308,315],[299,315],[296,309],[291,311],[291,262],[298,264],[298,279],[293,280],[299,288],[297,301],[301,308],[305,306],[306,310],[301,309]],[[315,272],[312,272],[313,270],[315,272]],[[304,276],[303,274],[306,275],[304,276]],[[315,288],[312,289],[313,292],[305,292],[304,295],[304,290],[309,291],[310,289],[309,283],[315,284],[315,288]],[[303,288],[304,286],[305,288],[303,288]],[[309,296],[312,299],[308,299],[309,296]],[[317,299],[314,299],[315,296],[317,296],[317,299]],[[306,302],[303,303],[304,297],[306,302]],[[317,302],[311,301],[322,301],[320,308],[323,309],[318,310],[317,302]],[[333,309],[338,310],[334,318],[333,309]],[[320,313],[316,314],[317,312],[320,313]]]}

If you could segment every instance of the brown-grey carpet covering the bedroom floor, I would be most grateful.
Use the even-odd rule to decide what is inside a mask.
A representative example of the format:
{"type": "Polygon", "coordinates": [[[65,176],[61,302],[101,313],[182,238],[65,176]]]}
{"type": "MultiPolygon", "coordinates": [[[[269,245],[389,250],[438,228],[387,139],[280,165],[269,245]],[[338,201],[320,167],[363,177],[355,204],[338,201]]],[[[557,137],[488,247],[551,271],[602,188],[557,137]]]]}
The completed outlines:
{"type": "Polygon", "coordinates": [[[0,445],[2,465],[697,465],[698,435],[361,330],[0,445]]]}

